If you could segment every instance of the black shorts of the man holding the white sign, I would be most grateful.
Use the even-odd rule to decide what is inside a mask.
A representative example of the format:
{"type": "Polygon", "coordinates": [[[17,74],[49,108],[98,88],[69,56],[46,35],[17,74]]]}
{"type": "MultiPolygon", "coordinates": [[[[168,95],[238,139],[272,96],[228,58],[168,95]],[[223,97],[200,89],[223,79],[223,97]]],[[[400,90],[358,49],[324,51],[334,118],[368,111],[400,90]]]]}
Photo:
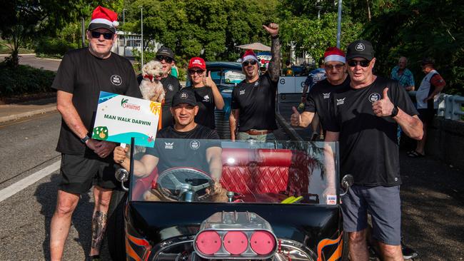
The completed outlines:
{"type": "Polygon", "coordinates": [[[92,185],[100,188],[118,188],[114,177],[114,163],[84,155],[61,154],[61,181],[59,189],[67,193],[82,194],[89,191],[92,185]]]}

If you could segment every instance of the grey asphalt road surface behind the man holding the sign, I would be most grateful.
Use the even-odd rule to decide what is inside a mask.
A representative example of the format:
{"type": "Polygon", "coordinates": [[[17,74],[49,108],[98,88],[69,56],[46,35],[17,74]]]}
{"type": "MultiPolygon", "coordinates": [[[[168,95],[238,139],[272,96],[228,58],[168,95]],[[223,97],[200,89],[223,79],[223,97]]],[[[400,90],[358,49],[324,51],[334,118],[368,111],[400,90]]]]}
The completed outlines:
{"type": "MultiPolygon", "coordinates": [[[[58,113],[0,125],[0,190],[60,160],[55,151],[58,113]]],[[[49,260],[49,225],[59,171],[0,202],[0,260],[49,260]]],[[[0,195],[1,197],[2,195],[0,195]]],[[[90,249],[91,193],[82,195],[72,219],[64,260],[84,260],[90,249]]],[[[103,253],[109,260],[107,252],[103,253]]]]}

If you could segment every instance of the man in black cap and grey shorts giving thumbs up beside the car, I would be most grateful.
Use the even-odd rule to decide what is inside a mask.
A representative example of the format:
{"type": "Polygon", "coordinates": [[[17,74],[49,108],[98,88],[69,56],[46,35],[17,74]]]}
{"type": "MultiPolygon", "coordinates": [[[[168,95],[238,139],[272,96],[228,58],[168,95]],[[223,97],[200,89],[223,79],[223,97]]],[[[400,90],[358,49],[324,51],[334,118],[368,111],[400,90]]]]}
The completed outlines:
{"type": "Polygon", "coordinates": [[[397,81],[375,76],[374,51],[369,41],[348,46],[350,85],[333,93],[334,116],[326,121],[326,141],[340,143],[341,173],[354,184],[342,197],[343,230],[348,232],[350,260],[368,260],[367,217],[383,260],[403,260],[400,246],[400,166],[397,126],[410,138],[422,138],[418,118],[405,88],[397,81]]]}

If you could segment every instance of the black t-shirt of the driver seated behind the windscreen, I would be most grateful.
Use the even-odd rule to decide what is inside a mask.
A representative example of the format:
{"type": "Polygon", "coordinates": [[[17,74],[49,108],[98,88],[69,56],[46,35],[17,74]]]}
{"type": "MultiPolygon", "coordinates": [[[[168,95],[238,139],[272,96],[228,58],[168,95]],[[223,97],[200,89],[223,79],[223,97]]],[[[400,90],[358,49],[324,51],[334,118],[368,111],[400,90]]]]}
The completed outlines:
{"type": "Polygon", "coordinates": [[[159,158],[158,173],[173,167],[198,168],[209,173],[206,149],[211,147],[221,147],[221,141],[210,128],[198,124],[191,131],[179,132],[168,126],[156,133],[155,146],[147,148],[146,153],[159,158]]]}

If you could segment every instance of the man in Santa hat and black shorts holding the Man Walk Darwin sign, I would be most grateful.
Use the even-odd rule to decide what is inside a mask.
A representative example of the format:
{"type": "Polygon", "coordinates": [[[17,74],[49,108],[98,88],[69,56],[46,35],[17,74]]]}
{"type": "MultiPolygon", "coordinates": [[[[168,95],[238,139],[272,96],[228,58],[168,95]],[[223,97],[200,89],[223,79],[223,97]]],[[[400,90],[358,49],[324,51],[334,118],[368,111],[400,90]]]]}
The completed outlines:
{"type": "Polygon", "coordinates": [[[89,138],[100,91],[141,98],[131,62],[111,53],[116,19],[114,11],[101,6],[94,10],[86,33],[89,47],[65,54],[52,85],[62,121],[56,148],[61,153],[61,181],[50,225],[51,260],[63,258],[71,216],[80,195],[92,185],[95,207],[88,258],[98,259],[111,193],[118,187],[111,155],[116,144],[89,138]]]}

